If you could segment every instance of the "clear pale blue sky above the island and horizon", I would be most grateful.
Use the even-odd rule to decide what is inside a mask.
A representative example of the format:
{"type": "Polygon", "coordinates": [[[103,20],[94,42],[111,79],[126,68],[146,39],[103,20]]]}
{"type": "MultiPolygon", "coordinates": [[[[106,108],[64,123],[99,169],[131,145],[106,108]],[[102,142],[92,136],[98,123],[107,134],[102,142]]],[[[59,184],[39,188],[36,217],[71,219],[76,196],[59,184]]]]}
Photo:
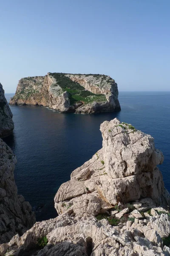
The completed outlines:
{"type": "Polygon", "coordinates": [[[6,0],[0,82],[99,73],[122,90],[170,90],[170,0],[6,0]]]}

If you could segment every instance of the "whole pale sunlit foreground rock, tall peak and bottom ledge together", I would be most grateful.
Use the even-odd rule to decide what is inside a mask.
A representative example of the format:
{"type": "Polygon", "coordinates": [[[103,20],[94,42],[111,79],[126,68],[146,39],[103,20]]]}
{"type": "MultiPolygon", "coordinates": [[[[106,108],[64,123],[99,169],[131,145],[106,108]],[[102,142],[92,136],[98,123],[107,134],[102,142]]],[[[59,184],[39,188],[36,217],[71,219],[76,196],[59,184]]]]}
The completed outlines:
{"type": "Polygon", "coordinates": [[[59,216],[17,233],[0,256],[170,256],[163,154],[153,137],[118,119],[100,131],[102,148],[57,191],[59,216]]]}

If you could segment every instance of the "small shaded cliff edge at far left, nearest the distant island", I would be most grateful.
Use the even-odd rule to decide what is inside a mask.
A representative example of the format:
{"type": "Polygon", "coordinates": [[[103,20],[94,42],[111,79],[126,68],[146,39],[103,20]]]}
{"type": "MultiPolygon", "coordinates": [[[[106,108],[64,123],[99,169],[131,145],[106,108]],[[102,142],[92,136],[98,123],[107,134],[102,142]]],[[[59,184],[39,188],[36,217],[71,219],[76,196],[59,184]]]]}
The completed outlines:
{"type": "Polygon", "coordinates": [[[0,83],[0,137],[10,135],[13,129],[12,113],[4,96],[3,86],[0,83]]]}

